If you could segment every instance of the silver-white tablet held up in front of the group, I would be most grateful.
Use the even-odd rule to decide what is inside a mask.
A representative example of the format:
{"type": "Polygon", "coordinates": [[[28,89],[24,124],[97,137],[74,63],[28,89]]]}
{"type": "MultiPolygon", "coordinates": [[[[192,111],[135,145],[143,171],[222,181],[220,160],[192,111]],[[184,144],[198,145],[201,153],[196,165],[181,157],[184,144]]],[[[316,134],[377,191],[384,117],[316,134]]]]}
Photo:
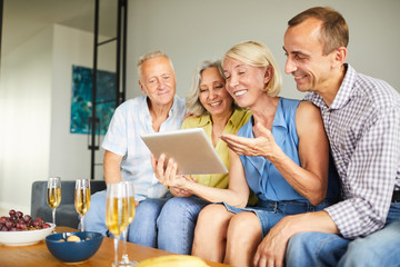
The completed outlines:
{"type": "Polygon", "coordinates": [[[156,159],[164,154],[178,164],[180,175],[227,174],[228,169],[201,128],[142,135],[156,159]]]}

